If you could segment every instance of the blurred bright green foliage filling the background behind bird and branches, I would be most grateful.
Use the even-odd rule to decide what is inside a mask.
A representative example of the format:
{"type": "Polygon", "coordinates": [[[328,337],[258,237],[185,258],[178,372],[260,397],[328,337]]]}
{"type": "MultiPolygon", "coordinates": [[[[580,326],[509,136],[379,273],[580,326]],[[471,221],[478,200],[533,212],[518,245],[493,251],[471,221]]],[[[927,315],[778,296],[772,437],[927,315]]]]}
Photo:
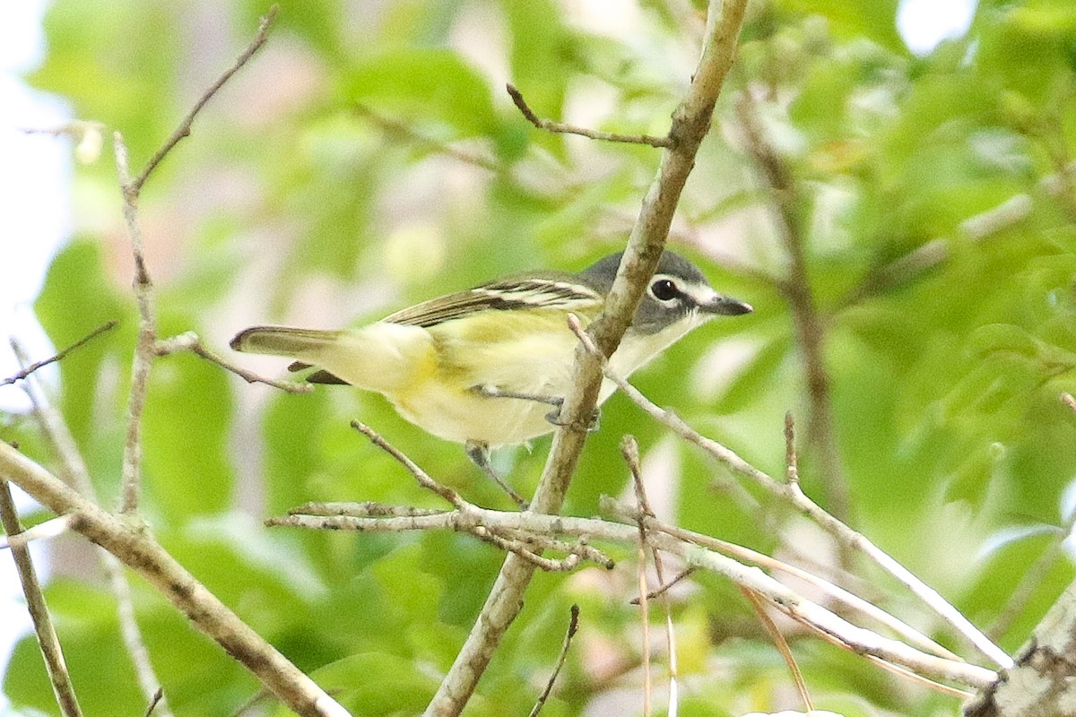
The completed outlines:
{"type": "MultiPolygon", "coordinates": [[[[282,2],[268,46],[143,193],[162,334],[194,330],[223,347],[251,324],[371,320],[497,275],[578,269],[615,250],[659,153],[536,131],[502,83],[540,115],[661,133],[696,52],[697,26],[676,12],[681,4],[640,3],[606,29],[578,3],[552,0],[282,2]]],[[[915,56],[896,32],[896,4],[752,5],[670,243],[756,312],[697,331],[636,383],[760,468],[783,471],[782,417],[791,410],[803,427],[807,397],[780,288],[788,260],[774,198],[738,129],[735,98],[751,91],[807,200],[797,229],[827,331],[854,525],[989,625],[1047,545],[999,536],[1063,524],[1076,471],[1076,416],[1059,401],[1076,365],[1076,193],[1072,173],[1047,182],[1076,143],[1076,6],[982,0],[966,37],[915,56]],[[995,212],[1016,206],[1018,214],[995,212]]],[[[57,0],[48,52],[30,80],[66,98],[75,117],[122,131],[138,167],[265,10],[57,0]]],[[[117,490],[136,331],[114,182],[104,159],[79,170],[82,224],[37,305],[57,346],[122,321],[62,361],[57,385],[107,504],[117,490]]],[[[152,373],[143,511],[179,560],[353,714],[415,714],[501,556],[457,535],[264,528],[261,518],[311,500],[437,505],[348,427],[351,417],[471,500],[507,506],[458,446],[423,434],[378,397],[334,387],[281,395],[180,356],[152,373]]],[[[51,463],[28,419],[13,430],[51,463]]],[[[667,517],[791,550],[782,537],[803,528],[782,506],[730,488],[719,465],[620,398],[589,441],[567,512],[591,515],[601,493],[625,489],[618,444],[628,432],[654,458],[648,471],[665,476],[653,490],[667,517]]],[[[505,449],[498,465],[532,490],[548,445],[505,449]]],[[[821,498],[822,467],[809,443],[801,453],[806,488],[821,498]]],[[[825,541],[806,545],[809,558],[826,560],[825,541]]],[[[641,630],[627,605],[634,553],[611,549],[613,573],[536,578],[468,714],[529,708],[572,602],[582,630],[547,714],[639,693],[641,630]]],[[[1022,642],[1073,574],[1065,560],[1045,576],[1005,647],[1022,642]]],[[[87,714],[138,714],[114,604],[95,577],[48,587],[74,683],[87,714]]],[[[925,631],[964,649],[889,580],[870,579],[869,598],[920,616],[925,631]]],[[[788,675],[733,588],[700,576],[674,603],[681,714],[780,706],[788,675]]],[[[230,714],[257,691],[160,596],[139,585],[137,607],[176,714],[230,714]]],[[[820,706],[846,715],[958,708],[792,636],[820,706]]],[[[56,713],[32,640],[19,645],[4,690],[19,708],[56,713]]]]}

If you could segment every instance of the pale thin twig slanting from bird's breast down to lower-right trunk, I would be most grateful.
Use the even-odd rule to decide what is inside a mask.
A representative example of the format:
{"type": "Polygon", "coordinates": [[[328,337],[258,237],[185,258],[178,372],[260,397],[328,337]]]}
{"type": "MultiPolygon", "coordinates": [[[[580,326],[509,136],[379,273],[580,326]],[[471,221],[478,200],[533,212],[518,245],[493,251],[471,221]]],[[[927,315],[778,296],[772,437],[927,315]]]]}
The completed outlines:
{"type": "Polygon", "coordinates": [[[648,415],[660,424],[671,430],[684,441],[692,443],[706,453],[724,463],[733,472],[749,478],[759,487],[765,489],[770,494],[791,503],[793,507],[810,517],[823,530],[834,535],[841,544],[861,550],[872,560],[878,563],[882,570],[892,575],[902,585],[907,587],[912,594],[922,600],[931,610],[942,616],[949,625],[964,635],[983,655],[1003,668],[1013,665],[1013,658],[1005,654],[1000,647],[982,633],[971,620],[964,617],[960,611],[947,602],[936,590],[923,583],[907,568],[891,558],[878,546],[872,543],[861,533],[855,532],[847,525],[835,518],[807,497],[796,483],[779,483],[768,474],[760,471],[751,463],[740,458],[732,449],[721,445],[712,439],[708,439],[691,428],[682,418],[670,411],[655,405],[650,399],[643,396],[637,388],[627,383],[622,376],[609,369],[608,362],[601,357],[600,352],[594,342],[584,332],[579,324],[579,319],[574,315],[568,316],[569,328],[579,336],[583,347],[592,355],[598,357],[601,363],[604,375],[609,381],[617,384],[637,406],[642,408],[648,415]]]}

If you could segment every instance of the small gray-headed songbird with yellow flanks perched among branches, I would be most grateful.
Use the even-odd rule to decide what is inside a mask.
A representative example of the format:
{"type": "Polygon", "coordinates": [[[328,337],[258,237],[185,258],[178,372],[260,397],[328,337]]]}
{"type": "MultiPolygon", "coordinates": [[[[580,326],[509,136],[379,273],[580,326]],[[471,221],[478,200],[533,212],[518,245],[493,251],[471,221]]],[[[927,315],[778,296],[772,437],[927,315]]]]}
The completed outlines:
{"type": "MultiPolygon", "coordinates": [[[[384,396],[406,419],[449,441],[490,472],[491,446],[523,443],[554,429],[578,339],[612,288],[621,254],[578,274],[536,271],[431,299],[367,326],[336,331],[256,326],[231,340],[238,352],[315,367],[307,381],[350,384],[384,396]]],[[[718,293],[688,259],[665,252],[631,327],[610,359],[627,376],[695,327],[751,306],[718,293]]],[[[614,385],[601,386],[598,403],[614,385]]]]}

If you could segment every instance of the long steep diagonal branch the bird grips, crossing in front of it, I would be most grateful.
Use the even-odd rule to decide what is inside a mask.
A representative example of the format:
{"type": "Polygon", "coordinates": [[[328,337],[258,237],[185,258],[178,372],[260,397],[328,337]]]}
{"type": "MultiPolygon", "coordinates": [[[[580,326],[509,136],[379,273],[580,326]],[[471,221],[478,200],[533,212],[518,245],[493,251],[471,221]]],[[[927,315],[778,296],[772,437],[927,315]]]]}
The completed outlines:
{"type": "MultiPolygon", "coordinates": [[[[612,355],[620,344],[647,281],[657,268],[680,192],[695,164],[698,146],[709,131],[713,105],[732,67],[746,6],[747,0],[710,2],[698,67],[672,115],[669,129],[672,142],[662,153],[661,166],[642,201],[603,315],[589,329],[606,356],[612,355]]],[[[585,352],[577,350],[571,389],[561,406],[565,425],[553,436],[532,511],[560,512],[586,440],[600,385],[598,362],[585,352]]],[[[427,717],[456,717],[463,712],[501,637],[522,608],[533,575],[534,567],[529,563],[514,556],[505,560],[467,641],[426,707],[427,717]]]]}

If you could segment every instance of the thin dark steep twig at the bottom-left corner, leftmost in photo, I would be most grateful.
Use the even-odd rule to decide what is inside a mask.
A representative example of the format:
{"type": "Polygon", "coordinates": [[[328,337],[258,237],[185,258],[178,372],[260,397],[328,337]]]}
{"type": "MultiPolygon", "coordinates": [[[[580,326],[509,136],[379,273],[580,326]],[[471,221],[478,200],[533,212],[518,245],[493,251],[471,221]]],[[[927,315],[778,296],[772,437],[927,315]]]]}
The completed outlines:
{"type": "MultiPolygon", "coordinates": [[[[4,447],[9,448],[8,444],[4,444],[4,447]]],[[[11,497],[11,487],[2,476],[0,476],[0,524],[3,525],[4,533],[9,537],[15,537],[23,532],[23,525],[15,511],[15,501],[11,497]]],[[[41,592],[41,584],[38,582],[38,573],[30,559],[30,550],[25,545],[12,545],[11,553],[15,558],[18,579],[23,584],[23,594],[26,596],[26,606],[33,620],[33,631],[38,636],[48,679],[53,684],[56,703],[65,717],[82,717],[79,698],[74,693],[74,685],[71,684],[71,673],[68,672],[63,660],[63,649],[53,627],[45,596],[41,592]]]]}

